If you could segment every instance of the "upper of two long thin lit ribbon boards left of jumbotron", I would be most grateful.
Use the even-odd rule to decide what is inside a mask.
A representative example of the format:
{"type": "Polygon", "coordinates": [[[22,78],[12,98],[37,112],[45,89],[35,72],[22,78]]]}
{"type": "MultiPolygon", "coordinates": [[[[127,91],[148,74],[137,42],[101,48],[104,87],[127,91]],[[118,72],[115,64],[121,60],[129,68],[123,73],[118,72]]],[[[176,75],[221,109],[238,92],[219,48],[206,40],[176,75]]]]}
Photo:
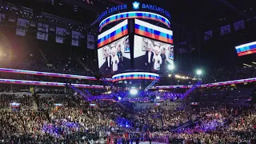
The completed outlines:
{"type": "MultiPolygon", "coordinates": [[[[16,73],[16,74],[43,75],[43,76],[49,76],[49,77],[62,77],[62,78],[78,78],[78,79],[87,79],[87,80],[97,80],[95,77],[89,77],[89,76],[73,75],[73,74],[48,73],[48,72],[31,71],[31,70],[15,70],[15,69],[0,68],[0,72],[16,73]]],[[[106,78],[106,80],[107,81],[112,81],[111,78],[106,78]]]]}

